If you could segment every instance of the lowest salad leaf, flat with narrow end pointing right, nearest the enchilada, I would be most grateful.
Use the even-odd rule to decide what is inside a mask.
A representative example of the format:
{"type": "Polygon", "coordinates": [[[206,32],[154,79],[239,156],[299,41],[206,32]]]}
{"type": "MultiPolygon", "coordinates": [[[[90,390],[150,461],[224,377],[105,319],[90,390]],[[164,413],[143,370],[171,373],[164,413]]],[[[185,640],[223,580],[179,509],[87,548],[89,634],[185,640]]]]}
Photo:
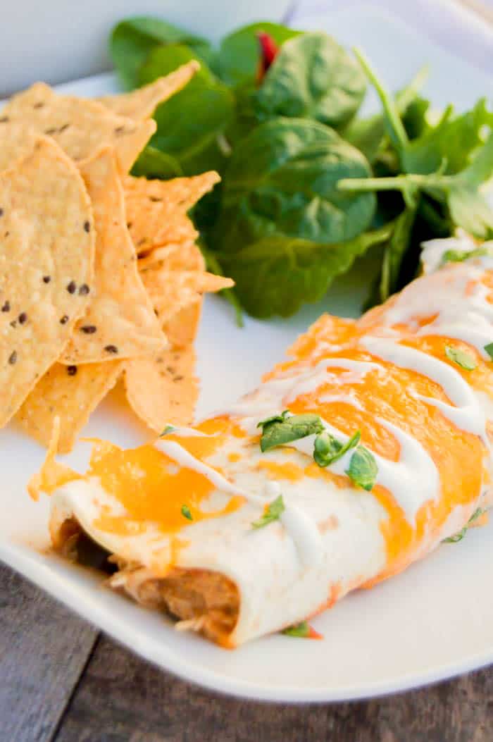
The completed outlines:
{"type": "Polygon", "coordinates": [[[226,275],[254,317],[289,317],[306,302],[319,301],[331,281],[348,271],[371,246],[385,243],[392,226],[384,226],[340,245],[323,245],[293,237],[263,237],[240,252],[222,256],[226,275]]]}

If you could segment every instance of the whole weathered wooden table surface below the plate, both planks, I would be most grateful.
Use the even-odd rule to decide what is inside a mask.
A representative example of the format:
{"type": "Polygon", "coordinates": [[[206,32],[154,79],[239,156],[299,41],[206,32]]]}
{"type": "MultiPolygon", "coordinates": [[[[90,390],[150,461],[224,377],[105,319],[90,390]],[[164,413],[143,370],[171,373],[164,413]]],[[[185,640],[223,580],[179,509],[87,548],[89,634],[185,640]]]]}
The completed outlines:
{"type": "Polygon", "coordinates": [[[362,703],[253,703],[162,672],[0,566],[1,742],[492,742],[493,667],[362,703]]]}

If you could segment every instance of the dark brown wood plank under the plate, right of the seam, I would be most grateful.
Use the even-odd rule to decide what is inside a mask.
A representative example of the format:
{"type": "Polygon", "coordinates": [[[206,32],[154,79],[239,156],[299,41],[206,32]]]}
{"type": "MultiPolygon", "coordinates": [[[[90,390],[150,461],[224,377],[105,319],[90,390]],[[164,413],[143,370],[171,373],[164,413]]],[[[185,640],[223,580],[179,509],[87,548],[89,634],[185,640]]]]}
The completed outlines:
{"type": "Polygon", "coordinates": [[[54,742],[491,742],[493,667],[366,703],[284,706],[203,691],[102,637],[54,742]]]}

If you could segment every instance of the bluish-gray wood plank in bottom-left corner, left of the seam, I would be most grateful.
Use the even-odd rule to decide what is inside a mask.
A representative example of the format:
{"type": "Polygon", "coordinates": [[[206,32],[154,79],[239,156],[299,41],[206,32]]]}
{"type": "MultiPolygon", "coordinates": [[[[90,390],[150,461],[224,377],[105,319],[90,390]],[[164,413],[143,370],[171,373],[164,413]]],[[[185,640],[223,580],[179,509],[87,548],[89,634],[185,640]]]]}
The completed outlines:
{"type": "Polygon", "coordinates": [[[0,564],[0,739],[52,738],[98,633],[0,564]]]}

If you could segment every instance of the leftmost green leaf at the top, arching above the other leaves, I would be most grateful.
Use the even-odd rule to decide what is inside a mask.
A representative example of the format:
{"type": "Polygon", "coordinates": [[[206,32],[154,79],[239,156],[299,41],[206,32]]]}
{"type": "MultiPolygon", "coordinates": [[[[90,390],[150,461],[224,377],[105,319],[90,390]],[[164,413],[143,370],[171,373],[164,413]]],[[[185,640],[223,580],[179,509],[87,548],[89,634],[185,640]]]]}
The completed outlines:
{"type": "Polygon", "coordinates": [[[110,36],[110,56],[125,88],[142,85],[139,69],[150,51],[168,44],[183,44],[205,61],[211,57],[211,45],[206,39],[194,36],[159,18],[136,16],[117,24],[110,36]]]}

